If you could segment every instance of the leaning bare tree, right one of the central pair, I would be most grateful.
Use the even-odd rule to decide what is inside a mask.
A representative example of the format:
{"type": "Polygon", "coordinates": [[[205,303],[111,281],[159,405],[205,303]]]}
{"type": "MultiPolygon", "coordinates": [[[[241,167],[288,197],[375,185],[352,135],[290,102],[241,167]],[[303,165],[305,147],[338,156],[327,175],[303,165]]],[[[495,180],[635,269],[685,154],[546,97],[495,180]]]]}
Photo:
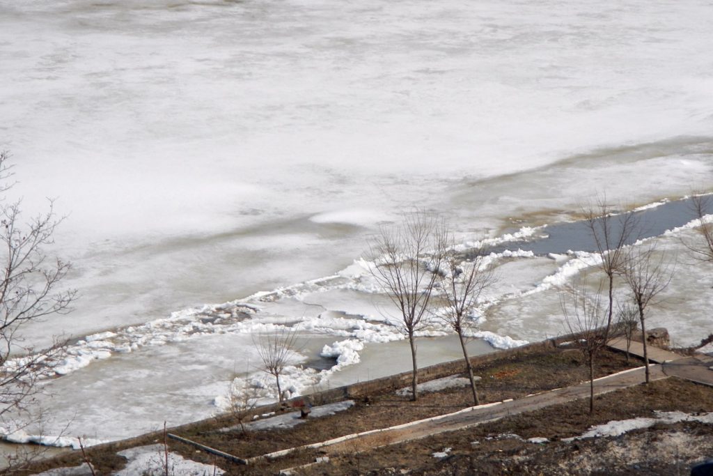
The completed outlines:
{"type": "Polygon", "coordinates": [[[478,298],[483,290],[496,280],[493,268],[485,262],[486,248],[474,250],[473,258],[464,261],[459,253],[453,251],[452,240],[448,252],[443,257],[441,277],[441,297],[446,302],[446,307],[441,310],[439,317],[458,334],[458,340],[466,360],[468,379],[471,381],[473,402],[480,405],[476,380],[473,377],[473,365],[468,357],[466,346],[469,325],[468,316],[476,308],[478,298]]]}

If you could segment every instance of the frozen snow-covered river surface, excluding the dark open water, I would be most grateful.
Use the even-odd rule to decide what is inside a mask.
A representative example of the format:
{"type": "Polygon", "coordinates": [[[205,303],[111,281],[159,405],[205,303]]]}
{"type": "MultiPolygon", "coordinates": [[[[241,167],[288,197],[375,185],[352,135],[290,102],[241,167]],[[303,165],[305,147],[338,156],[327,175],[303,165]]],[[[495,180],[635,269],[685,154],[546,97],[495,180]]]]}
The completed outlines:
{"type": "MultiPolygon", "coordinates": [[[[408,370],[362,255],[414,206],[512,241],[597,193],[713,191],[711,24],[703,0],[0,0],[6,200],[57,198],[81,295],[25,329],[74,343],[22,436],[177,425],[230,385],[274,398],[252,335],[284,325],[306,342],[294,393],[408,370]]],[[[578,251],[493,256],[477,352],[563,333],[578,251]]],[[[651,319],[692,344],[712,269],[685,266],[651,319]]],[[[447,334],[424,329],[421,365],[458,358],[447,334]]]]}

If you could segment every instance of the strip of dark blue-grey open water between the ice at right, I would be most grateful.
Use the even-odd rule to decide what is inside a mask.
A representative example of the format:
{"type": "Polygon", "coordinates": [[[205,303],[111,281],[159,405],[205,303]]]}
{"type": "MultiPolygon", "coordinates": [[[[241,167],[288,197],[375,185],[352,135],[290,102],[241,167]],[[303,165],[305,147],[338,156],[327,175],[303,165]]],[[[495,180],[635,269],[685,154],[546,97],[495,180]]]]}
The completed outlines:
{"type": "MultiPolygon", "coordinates": [[[[713,198],[706,200],[704,205],[706,213],[713,213],[713,198]]],[[[635,218],[636,226],[632,228],[633,233],[625,241],[627,245],[641,238],[660,236],[671,228],[685,225],[697,216],[690,198],[670,201],[656,208],[630,212],[628,215],[633,215],[632,218],[635,218]]],[[[614,237],[620,235],[623,216],[625,215],[610,218],[612,236],[614,237]]],[[[597,221],[595,226],[601,226],[601,221],[597,221]]],[[[493,246],[488,252],[502,253],[505,250],[519,248],[532,251],[535,255],[547,255],[548,253],[567,253],[568,250],[589,252],[597,250],[591,228],[586,221],[555,223],[544,228],[543,233],[546,233],[548,237],[503,243],[493,246]]]]}

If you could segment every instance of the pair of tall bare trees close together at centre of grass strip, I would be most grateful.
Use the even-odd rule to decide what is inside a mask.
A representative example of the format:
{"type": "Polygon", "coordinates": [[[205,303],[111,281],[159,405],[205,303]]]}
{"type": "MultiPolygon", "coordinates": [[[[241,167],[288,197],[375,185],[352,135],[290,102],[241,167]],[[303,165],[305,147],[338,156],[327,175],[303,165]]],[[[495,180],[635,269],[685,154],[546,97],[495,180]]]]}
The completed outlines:
{"type": "Polygon", "coordinates": [[[448,223],[425,211],[406,215],[401,226],[381,228],[370,243],[371,275],[398,310],[398,323],[409,339],[414,400],[419,397],[416,332],[435,315],[458,335],[473,402],[480,403],[466,340],[478,298],[496,279],[484,257],[485,250],[478,249],[464,260],[448,223]]]}

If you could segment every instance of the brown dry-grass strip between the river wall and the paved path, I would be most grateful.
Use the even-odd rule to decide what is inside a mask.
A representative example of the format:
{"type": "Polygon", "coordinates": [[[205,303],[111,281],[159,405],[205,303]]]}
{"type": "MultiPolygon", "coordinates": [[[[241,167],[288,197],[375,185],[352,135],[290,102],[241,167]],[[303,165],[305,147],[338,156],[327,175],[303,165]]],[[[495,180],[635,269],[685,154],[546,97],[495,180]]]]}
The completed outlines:
{"type": "MultiPolygon", "coordinates": [[[[597,368],[597,376],[608,375],[628,367],[640,365],[635,360],[632,360],[631,365],[627,365],[622,354],[610,351],[602,353],[600,362],[602,364],[597,368]]],[[[482,402],[496,402],[507,398],[523,397],[531,393],[579,383],[588,378],[588,369],[583,365],[581,354],[578,351],[562,349],[503,357],[486,365],[476,366],[474,373],[482,378],[478,383],[482,402]]],[[[218,429],[235,423],[231,422],[229,418],[222,418],[194,425],[182,431],[180,436],[238,457],[247,458],[289,447],[319,442],[353,432],[374,430],[453,412],[470,406],[472,404],[471,401],[472,395],[469,388],[425,393],[421,395],[417,402],[411,402],[408,397],[399,397],[394,393],[388,393],[372,395],[368,399],[356,402],[354,407],[344,412],[339,412],[337,415],[309,419],[304,424],[290,429],[254,431],[245,435],[240,430],[218,432],[218,429]]],[[[155,442],[150,437],[147,437],[145,442],[141,444],[153,444],[155,442]]],[[[213,462],[211,455],[196,452],[195,447],[175,441],[170,441],[169,444],[172,451],[180,452],[185,457],[208,464],[213,462]]],[[[387,447],[382,451],[393,454],[394,448],[398,447],[387,447]]],[[[109,474],[123,465],[123,458],[116,456],[116,451],[120,449],[121,445],[98,449],[89,448],[88,455],[96,463],[100,474],[109,474]]],[[[262,462],[249,467],[235,465],[226,460],[219,460],[218,464],[227,470],[229,474],[274,474],[284,467],[311,462],[317,456],[319,456],[317,452],[302,452],[286,457],[279,462],[262,462]]],[[[355,449],[345,458],[351,460],[353,462],[352,465],[356,465],[359,469],[368,466],[366,465],[366,460],[362,457],[361,449],[355,449]]],[[[375,461],[379,461],[379,459],[377,458],[375,461]]],[[[43,462],[41,465],[34,467],[34,470],[45,470],[49,467],[63,465],[78,465],[80,462],[79,455],[64,455],[55,460],[43,462]]],[[[391,463],[388,464],[388,466],[390,465],[391,463]]],[[[322,466],[324,465],[319,465],[319,467],[322,466]]],[[[346,467],[342,469],[347,470],[346,467]]],[[[371,470],[374,469],[376,468],[372,465],[371,470]]],[[[334,472],[331,474],[340,473],[334,472]]]]}

